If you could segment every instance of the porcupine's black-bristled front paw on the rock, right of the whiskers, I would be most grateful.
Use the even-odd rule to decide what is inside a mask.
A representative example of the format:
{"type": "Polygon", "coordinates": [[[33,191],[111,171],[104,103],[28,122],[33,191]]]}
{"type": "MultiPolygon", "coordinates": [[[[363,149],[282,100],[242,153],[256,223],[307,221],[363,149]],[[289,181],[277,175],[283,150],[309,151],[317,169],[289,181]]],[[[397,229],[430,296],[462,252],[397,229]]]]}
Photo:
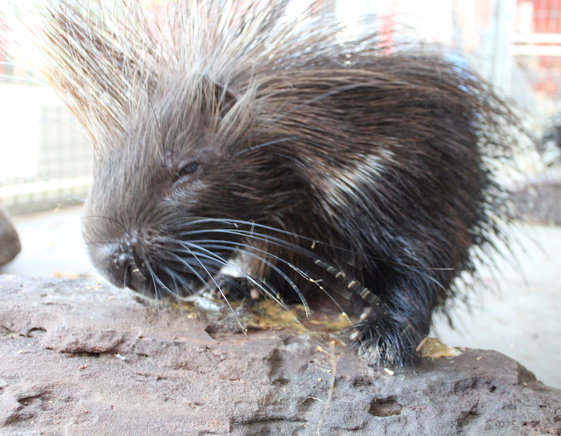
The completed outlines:
{"type": "Polygon", "coordinates": [[[411,365],[418,358],[417,346],[428,332],[396,319],[382,310],[372,310],[355,324],[350,337],[360,343],[359,354],[376,365],[411,365]]]}

